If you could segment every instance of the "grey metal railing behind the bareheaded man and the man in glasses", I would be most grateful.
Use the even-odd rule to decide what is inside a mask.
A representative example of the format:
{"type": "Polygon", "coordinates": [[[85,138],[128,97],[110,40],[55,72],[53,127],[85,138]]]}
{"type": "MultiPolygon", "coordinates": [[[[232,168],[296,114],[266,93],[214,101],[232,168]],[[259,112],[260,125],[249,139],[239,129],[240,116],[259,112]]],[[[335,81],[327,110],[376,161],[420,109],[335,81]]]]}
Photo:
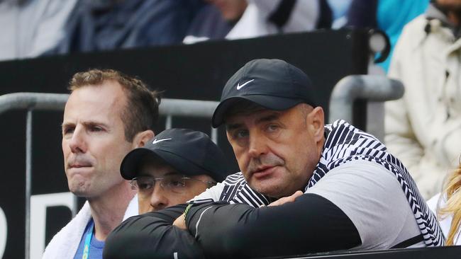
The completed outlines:
{"type": "MultiPolygon", "coordinates": [[[[27,110],[26,116],[26,243],[25,258],[30,258],[30,196],[32,186],[32,116],[33,110],[64,110],[69,98],[63,93],[8,93],[0,96],[0,114],[9,110],[27,110]]],[[[166,117],[165,127],[172,127],[172,117],[213,115],[218,102],[207,100],[162,99],[159,113],[166,117]]],[[[211,127],[211,139],[218,142],[218,131],[211,127]]],[[[74,215],[76,212],[72,212],[74,215]]]]}

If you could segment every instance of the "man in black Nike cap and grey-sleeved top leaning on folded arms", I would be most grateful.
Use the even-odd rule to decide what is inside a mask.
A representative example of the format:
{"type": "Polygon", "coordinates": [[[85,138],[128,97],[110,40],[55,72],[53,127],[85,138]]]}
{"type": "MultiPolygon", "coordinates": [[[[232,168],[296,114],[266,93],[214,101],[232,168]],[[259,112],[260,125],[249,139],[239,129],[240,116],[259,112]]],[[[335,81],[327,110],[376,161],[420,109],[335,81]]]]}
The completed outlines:
{"type": "Polygon", "coordinates": [[[245,64],[226,83],[212,119],[213,127],[226,125],[241,172],[195,197],[173,226],[128,220],[114,237],[126,238],[124,248],[149,243],[142,253],[155,258],[442,246],[406,168],[348,122],[324,125],[315,92],[287,62],[245,64]],[[132,241],[123,234],[128,225],[143,228],[132,241]],[[167,246],[166,239],[182,241],[167,246]]]}

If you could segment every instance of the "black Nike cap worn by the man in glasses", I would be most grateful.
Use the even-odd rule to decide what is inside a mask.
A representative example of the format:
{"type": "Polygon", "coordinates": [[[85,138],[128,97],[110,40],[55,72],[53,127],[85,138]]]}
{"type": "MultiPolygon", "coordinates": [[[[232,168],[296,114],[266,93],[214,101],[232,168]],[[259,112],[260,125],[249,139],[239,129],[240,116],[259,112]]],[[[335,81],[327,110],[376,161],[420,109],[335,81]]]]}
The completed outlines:
{"type": "Polygon", "coordinates": [[[135,178],[146,159],[160,159],[184,175],[209,175],[223,181],[228,166],[223,151],[203,132],[191,129],[165,129],[145,144],[130,151],[123,159],[123,178],[135,178]]]}

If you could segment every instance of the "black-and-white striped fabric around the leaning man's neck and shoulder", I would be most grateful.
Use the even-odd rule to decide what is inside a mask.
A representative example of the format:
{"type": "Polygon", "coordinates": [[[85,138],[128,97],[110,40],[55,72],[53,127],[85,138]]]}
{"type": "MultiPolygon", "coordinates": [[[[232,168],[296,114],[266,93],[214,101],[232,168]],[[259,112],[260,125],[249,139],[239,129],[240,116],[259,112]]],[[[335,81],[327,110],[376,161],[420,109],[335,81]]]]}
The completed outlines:
{"type": "MultiPolygon", "coordinates": [[[[399,159],[387,152],[384,144],[344,120],[337,120],[332,125],[326,125],[325,135],[326,142],[323,146],[321,159],[316,166],[316,170],[313,171],[306,190],[315,185],[328,171],[348,163],[348,161],[365,160],[377,163],[391,171],[396,180],[399,181],[426,246],[443,246],[445,240],[435,216],[421,197],[413,178],[411,178],[405,166],[399,159]]],[[[223,185],[219,200],[230,202],[231,204],[244,203],[252,207],[260,207],[260,205],[268,205],[272,202],[270,197],[252,190],[242,173],[229,175],[223,185]]],[[[194,202],[200,203],[202,201],[195,200],[194,202]]]]}

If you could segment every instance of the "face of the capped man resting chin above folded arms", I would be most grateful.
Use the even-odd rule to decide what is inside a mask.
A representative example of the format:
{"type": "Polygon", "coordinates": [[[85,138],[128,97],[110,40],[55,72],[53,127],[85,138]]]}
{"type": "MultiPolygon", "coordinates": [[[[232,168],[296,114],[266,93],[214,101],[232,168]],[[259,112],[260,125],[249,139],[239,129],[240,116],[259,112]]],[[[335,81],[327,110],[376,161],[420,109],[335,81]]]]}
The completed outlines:
{"type": "Polygon", "coordinates": [[[228,140],[252,189],[284,197],[304,188],[323,146],[323,117],[321,122],[313,120],[311,111],[299,104],[283,111],[260,108],[226,118],[228,140]]]}

